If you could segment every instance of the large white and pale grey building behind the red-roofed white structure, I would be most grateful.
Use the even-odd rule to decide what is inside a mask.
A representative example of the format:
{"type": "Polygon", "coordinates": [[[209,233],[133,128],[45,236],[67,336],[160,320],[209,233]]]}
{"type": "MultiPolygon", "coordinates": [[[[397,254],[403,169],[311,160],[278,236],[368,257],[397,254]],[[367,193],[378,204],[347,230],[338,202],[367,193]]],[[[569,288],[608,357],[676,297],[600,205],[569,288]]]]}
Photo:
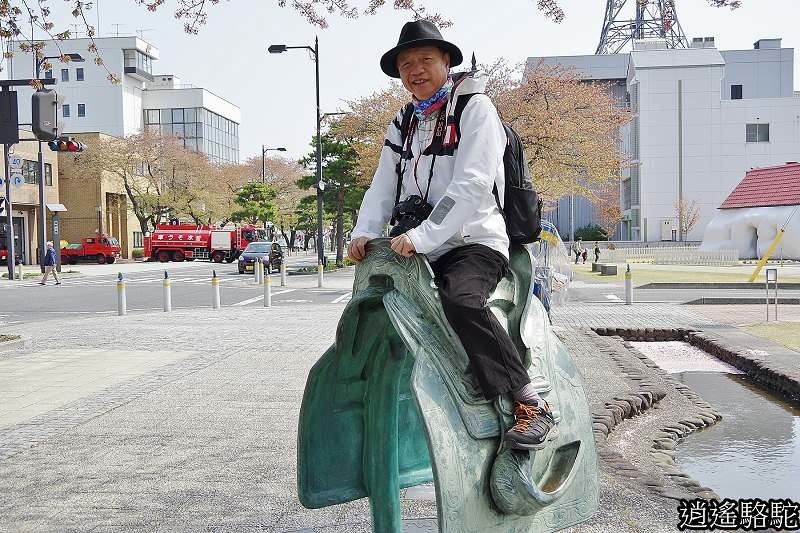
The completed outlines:
{"type": "Polygon", "coordinates": [[[780,42],[762,39],[752,50],[720,52],[711,38],[683,50],[638,41],[630,54],[529,58],[528,64],[573,66],[586,80],[610,82],[630,105],[634,119],[623,146],[633,164],[622,173],[622,238],[677,240],[675,204],[682,197],[700,207],[699,223],[685,236],[698,241],[748,169],[800,158],[794,50],[780,42]]]}

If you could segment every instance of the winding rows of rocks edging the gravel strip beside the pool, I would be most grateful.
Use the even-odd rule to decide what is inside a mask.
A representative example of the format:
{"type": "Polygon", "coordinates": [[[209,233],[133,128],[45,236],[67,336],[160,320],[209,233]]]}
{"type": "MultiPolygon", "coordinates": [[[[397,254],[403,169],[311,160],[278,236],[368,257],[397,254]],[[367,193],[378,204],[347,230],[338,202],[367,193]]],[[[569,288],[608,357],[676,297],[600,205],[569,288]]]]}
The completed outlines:
{"type": "Polygon", "coordinates": [[[691,496],[680,494],[672,488],[665,486],[661,480],[641,472],[619,452],[608,447],[608,434],[616,425],[621,423],[625,418],[632,418],[644,412],[666,395],[666,392],[661,389],[658,384],[647,379],[647,376],[639,369],[626,365],[625,361],[620,360],[621,358],[612,353],[612,351],[606,351],[605,353],[619,365],[626,377],[638,383],[639,391],[634,394],[615,396],[612,400],[606,402],[606,409],[600,409],[592,413],[592,426],[595,431],[598,455],[609,462],[622,475],[635,472],[635,476],[630,475],[629,477],[634,477],[652,492],[665,498],[686,499],[688,497],[694,497],[720,499],[712,489],[702,486],[691,476],[679,470],[675,464],[675,454],[678,445],[683,442],[686,436],[694,431],[717,423],[719,420],[722,420],[722,415],[690,387],[673,379],[646,355],[636,350],[629,342],[640,340],[646,342],[686,340],[690,330],[596,328],[594,331],[595,334],[600,336],[620,338],[620,340],[623,341],[623,345],[628,348],[632,355],[641,360],[648,368],[659,372],[665,381],[669,382],[679,393],[697,406],[698,413],[695,416],[681,419],[660,428],[655,434],[653,445],[649,450],[653,463],[664,472],[666,477],[680,488],[686,490],[691,496]]]}

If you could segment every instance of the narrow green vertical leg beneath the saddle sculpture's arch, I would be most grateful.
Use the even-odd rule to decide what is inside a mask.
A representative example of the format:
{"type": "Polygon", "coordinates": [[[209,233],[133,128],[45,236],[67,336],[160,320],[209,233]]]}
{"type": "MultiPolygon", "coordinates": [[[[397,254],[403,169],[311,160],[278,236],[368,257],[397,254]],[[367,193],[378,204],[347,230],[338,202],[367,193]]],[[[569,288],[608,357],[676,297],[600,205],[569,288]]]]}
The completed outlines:
{"type": "Polygon", "coordinates": [[[398,412],[400,371],[405,347],[380,343],[372,361],[367,388],[364,447],[365,485],[372,509],[372,530],[376,533],[402,533],[400,514],[400,472],[398,451],[398,412]]]}

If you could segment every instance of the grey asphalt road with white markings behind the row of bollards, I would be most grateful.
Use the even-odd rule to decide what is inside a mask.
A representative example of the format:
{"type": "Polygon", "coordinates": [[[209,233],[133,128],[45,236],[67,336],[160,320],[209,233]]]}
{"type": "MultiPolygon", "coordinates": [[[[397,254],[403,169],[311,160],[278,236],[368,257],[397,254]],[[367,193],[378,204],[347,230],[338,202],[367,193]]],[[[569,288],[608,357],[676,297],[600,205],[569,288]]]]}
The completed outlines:
{"type": "MultiPolygon", "coordinates": [[[[344,305],[350,297],[352,269],[329,272],[325,275],[325,288],[317,288],[316,274],[292,274],[302,266],[314,265],[313,256],[288,258],[287,286],[281,287],[280,276],[273,275],[273,305],[331,304],[344,305]]],[[[98,267],[99,265],[95,265],[98,267]]],[[[122,266],[122,265],[119,265],[122,266]]],[[[5,283],[0,286],[0,327],[24,322],[46,321],[66,316],[107,315],[117,312],[117,265],[103,265],[107,274],[69,277],[61,285],[48,280],[47,286],[38,279],[22,283],[5,283]]],[[[143,264],[125,273],[127,309],[129,313],[162,310],[163,269],[170,272],[172,280],[172,308],[211,307],[213,292],[212,271],[220,279],[222,306],[263,306],[264,290],[255,284],[252,274],[239,274],[236,263],[212,264],[207,262],[165,263],[155,266],[143,264]]],[[[73,267],[80,271],[81,265],[73,267]]],[[[86,269],[89,270],[88,268],[86,269]]],[[[97,272],[98,269],[92,270],[97,272]]],[[[102,270],[100,270],[102,272],[102,270]]]]}

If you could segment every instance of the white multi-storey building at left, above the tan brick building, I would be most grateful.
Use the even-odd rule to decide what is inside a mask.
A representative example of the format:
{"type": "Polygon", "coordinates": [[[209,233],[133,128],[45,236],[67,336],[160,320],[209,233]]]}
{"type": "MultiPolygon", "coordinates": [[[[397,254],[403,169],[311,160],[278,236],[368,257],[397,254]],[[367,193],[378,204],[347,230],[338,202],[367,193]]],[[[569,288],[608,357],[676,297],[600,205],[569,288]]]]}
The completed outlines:
{"type": "MultiPolygon", "coordinates": [[[[171,74],[154,75],[159,51],[142,39],[103,37],[94,42],[105,67],[120,83],[111,83],[106,68],[95,64],[87,51],[89,39],[46,41],[46,56],[77,53],[85,59],[66,64],[51,59],[52,71],[41,72],[41,77],[57,81],[53,88],[62,100],[59,117],[65,134],[99,132],[123,137],[148,126],[175,134],[188,149],[214,161],[238,163],[241,112],[237,106],[206,89],[183,84],[171,74]]],[[[35,77],[31,55],[20,51],[19,43],[13,46],[9,77],[35,77]]],[[[19,91],[20,122],[30,122],[30,93],[25,88],[19,91]]]]}

